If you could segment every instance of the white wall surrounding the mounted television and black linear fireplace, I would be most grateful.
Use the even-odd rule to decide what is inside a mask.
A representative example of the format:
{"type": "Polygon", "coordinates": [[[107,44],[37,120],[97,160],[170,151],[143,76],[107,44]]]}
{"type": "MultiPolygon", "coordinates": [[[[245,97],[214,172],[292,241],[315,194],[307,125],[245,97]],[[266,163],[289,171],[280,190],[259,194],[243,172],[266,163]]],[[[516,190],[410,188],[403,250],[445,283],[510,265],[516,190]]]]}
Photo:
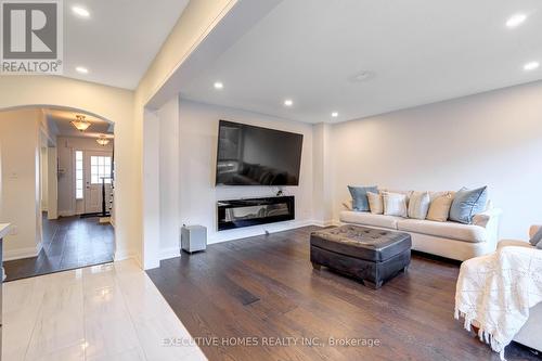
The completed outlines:
{"type": "MultiPolygon", "coordinates": [[[[175,125],[162,123],[171,119],[175,113],[166,105],[158,114],[160,118],[160,192],[166,206],[160,206],[160,218],[168,220],[171,234],[162,234],[163,257],[178,253],[179,227],[203,224],[207,227],[209,243],[221,242],[243,236],[262,234],[312,223],[312,126],[293,123],[280,118],[254,114],[227,107],[219,107],[181,100],[179,103],[179,137],[176,138],[175,125]],[[165,114],[168,116],[164,117],[165,114]],[[215,186],[215,167],[217,156],[218,123],[220,119],[238,121],[279,130],[304,134],[301,171],[299,186],[285,186],[284,192],[296,196],[296,220],[266,225],[255,225],[231,231],[217,231],[217,201],[241,197],[273,196],[278,188],[269,186],[215,186]],[[178,145],[176,150],[176,145],[178,145]],[[167,175],[175,172],[175,159],[179,165],[179,177],[167,175]],[[178,179],[178,181],[177,181],[178,179]],[[175,188],[178,186],[178,191],[175,188]],[[179,212],[170,208],[179,194],[179,212]],[[165,199],[167,195],[169,199],[165,199]]],[[[164,225],[164,223],[163,223],[164,225]]],[[[160,231],[162,233],[162,231],[160,231]]]]}

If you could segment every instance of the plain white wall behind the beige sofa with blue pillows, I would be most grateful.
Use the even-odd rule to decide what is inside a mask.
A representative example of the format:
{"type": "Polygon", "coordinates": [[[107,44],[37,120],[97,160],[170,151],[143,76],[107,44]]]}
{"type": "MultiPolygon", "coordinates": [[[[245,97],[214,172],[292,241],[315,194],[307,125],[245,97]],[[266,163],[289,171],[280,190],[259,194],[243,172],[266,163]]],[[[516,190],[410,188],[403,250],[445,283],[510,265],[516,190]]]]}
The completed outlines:
{"type": "Polygon", "coordinates": [[[334,218],[348,184],[489,186],[501,236],[542,222],[542,82],[335,125],[334,218]]]}

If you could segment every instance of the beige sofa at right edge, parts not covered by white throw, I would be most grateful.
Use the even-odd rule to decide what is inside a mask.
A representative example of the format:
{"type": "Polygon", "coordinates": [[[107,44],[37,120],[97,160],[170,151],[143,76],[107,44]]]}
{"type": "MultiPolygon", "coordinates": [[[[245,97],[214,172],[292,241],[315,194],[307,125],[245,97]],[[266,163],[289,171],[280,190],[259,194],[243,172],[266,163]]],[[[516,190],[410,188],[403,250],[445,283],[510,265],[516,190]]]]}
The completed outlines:
{"type": "MultiPolygon", "coordinates": [[[[531,225],[529,238],[537,233],[540,227],[542,225],[531,225]]],[[[516,240],[503,240],[498,244],[499,248],[506,246],[533,248],[530,243],[516,240]]],[[[542,302],[530,310],[529,320],[514,337],[514,340],[542,352],[542,337],[540,335],[542,335],[542,302]]]]}

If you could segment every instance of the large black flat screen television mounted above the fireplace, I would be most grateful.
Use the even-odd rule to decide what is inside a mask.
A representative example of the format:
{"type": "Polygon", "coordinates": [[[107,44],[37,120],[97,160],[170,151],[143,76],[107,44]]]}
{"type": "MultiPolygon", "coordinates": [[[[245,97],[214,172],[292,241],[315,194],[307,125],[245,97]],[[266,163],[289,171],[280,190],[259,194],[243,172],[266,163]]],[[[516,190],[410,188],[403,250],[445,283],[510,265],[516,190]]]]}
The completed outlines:
{"type": "Polygon", "coordinates": [[[220,120],[217,185],[299,185],[304,136],[220,120]]]}

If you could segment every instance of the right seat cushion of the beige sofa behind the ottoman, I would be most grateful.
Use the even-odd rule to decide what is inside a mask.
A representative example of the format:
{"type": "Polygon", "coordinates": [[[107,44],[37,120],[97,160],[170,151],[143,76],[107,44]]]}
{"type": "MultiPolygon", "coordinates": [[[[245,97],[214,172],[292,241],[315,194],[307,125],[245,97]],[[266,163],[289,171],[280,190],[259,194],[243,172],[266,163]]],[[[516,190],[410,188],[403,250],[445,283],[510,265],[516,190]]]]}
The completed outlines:
{"type": "Polygon", "coordinates": [[[472,243],[486,242],[488,240],[488,233],[485,228],[456,222],[401,219],[397,222],[397,229],[472,243]]]}

